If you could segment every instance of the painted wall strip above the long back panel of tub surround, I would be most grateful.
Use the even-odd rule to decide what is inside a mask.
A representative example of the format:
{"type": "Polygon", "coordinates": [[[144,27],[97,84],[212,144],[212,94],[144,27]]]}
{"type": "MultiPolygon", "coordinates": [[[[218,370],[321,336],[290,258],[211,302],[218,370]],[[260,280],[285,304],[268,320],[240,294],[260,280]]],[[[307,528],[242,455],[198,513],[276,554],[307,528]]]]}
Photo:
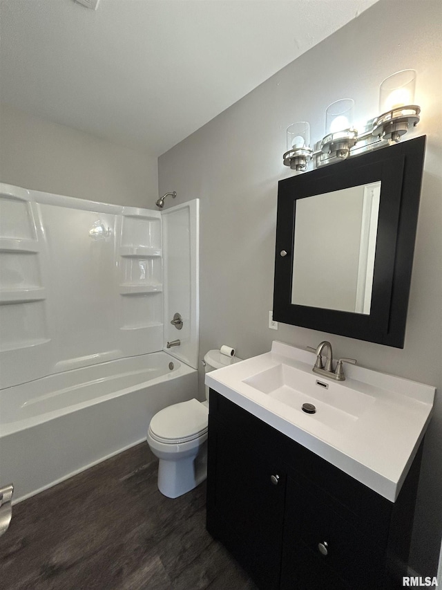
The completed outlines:
{"type": "Polygon", "coordinates": [[[0,105],[0,181],[78,199],[154,208],[157,158],[0,105]]]}

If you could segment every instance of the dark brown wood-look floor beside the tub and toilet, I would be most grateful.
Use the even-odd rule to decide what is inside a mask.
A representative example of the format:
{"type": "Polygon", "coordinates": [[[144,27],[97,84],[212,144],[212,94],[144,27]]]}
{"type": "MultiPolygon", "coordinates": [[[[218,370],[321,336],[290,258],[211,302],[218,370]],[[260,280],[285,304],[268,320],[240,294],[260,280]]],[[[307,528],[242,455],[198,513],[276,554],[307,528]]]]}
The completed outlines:
{"type": "Polygon", "coordinates": [[[147,443],[17,504],[0,538],[2,590],[255,590],[205,528],[205,483],[157,490],[147,443]]]}

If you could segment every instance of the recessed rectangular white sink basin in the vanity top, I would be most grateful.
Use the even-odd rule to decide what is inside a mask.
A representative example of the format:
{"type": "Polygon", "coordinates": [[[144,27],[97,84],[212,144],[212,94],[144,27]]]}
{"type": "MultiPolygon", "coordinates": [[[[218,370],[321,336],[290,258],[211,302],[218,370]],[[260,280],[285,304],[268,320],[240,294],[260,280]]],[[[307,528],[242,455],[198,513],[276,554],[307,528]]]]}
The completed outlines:
{"type": "Polygon", "coordinates": [[[243,382],[298,412],[303,411],[302,405],[305,403],[314,405],[316,412],[309,414],[311,420],[320,421],[340,432],[353,427],[376,400],[374,396],[363,394],[352,387],[343,387],[342,382],[333,382],[284,363],[248,377],[243,382]]]}

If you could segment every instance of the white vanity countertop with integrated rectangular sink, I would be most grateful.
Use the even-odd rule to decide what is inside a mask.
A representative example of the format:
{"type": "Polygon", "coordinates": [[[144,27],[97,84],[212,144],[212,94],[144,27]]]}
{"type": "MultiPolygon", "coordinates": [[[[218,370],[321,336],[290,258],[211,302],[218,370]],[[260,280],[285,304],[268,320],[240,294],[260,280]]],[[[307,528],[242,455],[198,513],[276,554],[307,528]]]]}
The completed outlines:
{"type": "Polygon", "coordinates": [[[206,385],[395,501],[436,390],[360,364],[345,367],[340,382],[314,373],[315,360],[305,349],[273,342],[268,353],[207,373],[206,385]],[[302,411],[304,404],[316,412],[302,411]]]}

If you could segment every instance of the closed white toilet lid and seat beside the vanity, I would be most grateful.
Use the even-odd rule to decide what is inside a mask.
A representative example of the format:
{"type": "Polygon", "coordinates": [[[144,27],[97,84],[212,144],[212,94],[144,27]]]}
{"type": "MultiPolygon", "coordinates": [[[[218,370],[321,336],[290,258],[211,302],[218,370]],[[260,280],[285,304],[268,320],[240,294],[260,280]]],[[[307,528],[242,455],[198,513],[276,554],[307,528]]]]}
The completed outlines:
{"type": "Polygon", "coordinates": [[[157,412],[149,425],[149,434],[159,443],[185,443],[207,432],[208,408],[195,398],[170,405],[157,412]]]}

